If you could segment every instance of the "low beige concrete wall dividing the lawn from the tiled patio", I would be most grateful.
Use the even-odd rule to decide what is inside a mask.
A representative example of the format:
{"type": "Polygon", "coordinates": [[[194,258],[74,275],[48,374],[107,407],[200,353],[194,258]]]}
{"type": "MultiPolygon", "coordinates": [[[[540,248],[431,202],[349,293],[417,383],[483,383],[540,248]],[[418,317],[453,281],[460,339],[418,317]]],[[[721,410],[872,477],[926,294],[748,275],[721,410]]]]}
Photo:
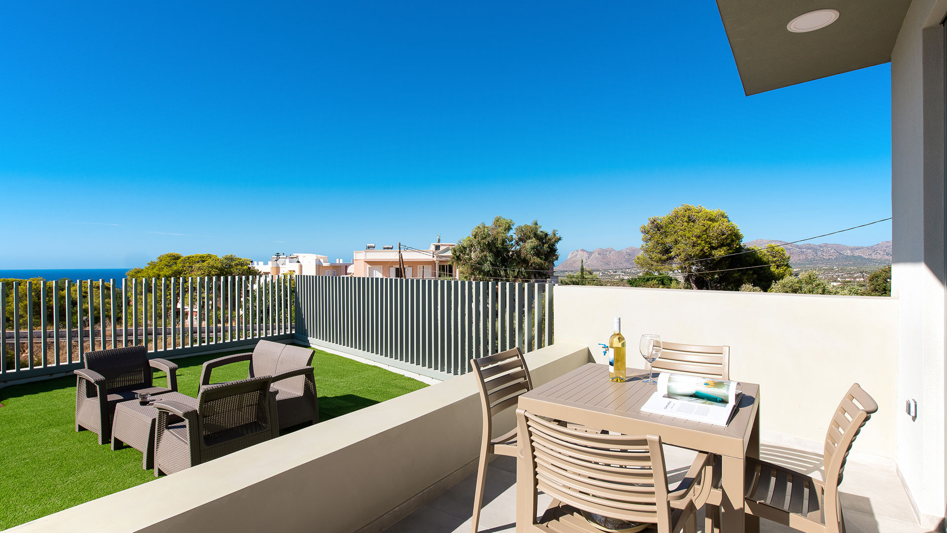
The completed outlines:
{"type": "MultiPolygon", "coordinates": [[[[535,384],[589,360],[565,343],[527,354],[535,384]]],[[[475,471],[473,375],[320,422],[8,531],[381,531],[475,471]]],[[[513,427],[512,411],[497,432],[513,427]]]]}

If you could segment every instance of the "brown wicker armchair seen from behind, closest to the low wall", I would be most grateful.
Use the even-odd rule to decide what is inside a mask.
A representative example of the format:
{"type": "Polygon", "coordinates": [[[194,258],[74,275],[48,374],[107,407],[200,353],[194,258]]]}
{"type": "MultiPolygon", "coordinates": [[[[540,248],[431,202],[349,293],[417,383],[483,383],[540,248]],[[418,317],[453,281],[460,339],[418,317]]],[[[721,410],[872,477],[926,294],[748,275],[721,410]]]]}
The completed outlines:
{"type": "Polygon", "coordinates": [[[270,377],[208,385],[197,407],[159,397],[154,476],[171,474],[279,436],[270,377]]]}

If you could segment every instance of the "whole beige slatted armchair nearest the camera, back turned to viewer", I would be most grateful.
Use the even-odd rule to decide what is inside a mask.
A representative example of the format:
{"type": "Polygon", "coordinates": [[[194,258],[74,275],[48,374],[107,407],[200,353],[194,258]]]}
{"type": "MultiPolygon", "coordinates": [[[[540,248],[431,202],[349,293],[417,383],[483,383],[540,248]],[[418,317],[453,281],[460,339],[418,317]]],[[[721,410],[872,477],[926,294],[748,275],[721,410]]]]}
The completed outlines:
{"type": "Polygon", "coordinates": [[[581,511],[656,524],[658,533],[696,531],[697,510],[710,493],[712,454],[698,454],[671,491],[657,435],[588,432],[522,409],[516,417],[521,453],[532,466],[530,484],[520,477],[516,488],[517,502],[527,504],[517,509],[517,531],[601,533],[581,511]],[[538,490],[553,500],[537,522],[538,490]]]}

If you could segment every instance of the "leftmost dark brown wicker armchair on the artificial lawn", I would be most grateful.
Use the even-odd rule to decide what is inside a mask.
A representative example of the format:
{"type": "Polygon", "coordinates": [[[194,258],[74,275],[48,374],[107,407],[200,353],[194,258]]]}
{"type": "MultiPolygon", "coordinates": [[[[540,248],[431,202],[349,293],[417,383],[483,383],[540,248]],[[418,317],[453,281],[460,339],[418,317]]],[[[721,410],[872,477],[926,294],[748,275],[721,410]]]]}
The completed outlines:
{"type": "Polygon", "coordinates": [[[137,393],[160,395],[177,391],[177,365],[165,359],[149,359],[144,346],[97,350],[85,354],[85,368],[76,375],[76,431],[98,433],[98,444],[112,440],[112,417],[116,404],[134,399],[137,393]],[[168,374],[168,386],[155,387],[153,370],[168,374]]]}

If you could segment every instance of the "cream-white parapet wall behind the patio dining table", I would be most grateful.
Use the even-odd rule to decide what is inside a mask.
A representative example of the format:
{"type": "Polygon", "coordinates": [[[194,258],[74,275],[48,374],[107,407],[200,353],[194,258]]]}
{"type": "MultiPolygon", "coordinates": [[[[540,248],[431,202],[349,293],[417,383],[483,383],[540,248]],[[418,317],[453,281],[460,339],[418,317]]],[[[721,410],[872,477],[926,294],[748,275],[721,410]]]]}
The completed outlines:
{"type": "Polygon", "coordinates": [[[858,382],[878,402],[855,449],[895,457],[897,300],[657,288],[555,289],[556,342],[599,342],[621,317],[629,365],[644,368],[642,334],[688,344],[730,346],[730,377],[760,385],[760,431],[821,450],[833,410],[858,382]]]}

